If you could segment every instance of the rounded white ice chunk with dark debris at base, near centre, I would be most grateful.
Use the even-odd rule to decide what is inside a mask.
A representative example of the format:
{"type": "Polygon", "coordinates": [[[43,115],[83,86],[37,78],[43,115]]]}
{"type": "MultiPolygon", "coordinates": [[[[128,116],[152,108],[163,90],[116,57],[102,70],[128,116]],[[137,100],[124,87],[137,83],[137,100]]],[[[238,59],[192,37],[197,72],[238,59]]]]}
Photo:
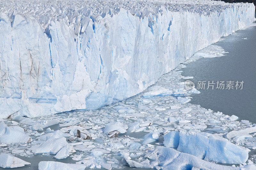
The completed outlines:
{"type": "Polygon", "coordinates": [[[103,133],[109,137],[117,137],[118,134],[125,133],[126,129],[128,129],[128,126],[121,122],[110,122],[106,125],[103,133]]]}

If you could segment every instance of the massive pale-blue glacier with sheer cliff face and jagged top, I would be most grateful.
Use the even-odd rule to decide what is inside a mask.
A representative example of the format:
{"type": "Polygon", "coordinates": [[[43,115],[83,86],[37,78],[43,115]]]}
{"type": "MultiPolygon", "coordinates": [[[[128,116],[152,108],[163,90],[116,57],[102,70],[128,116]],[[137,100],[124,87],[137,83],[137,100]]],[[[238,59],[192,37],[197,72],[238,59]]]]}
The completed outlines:
{"type": "Polygon", "coordinates": [[[251,24],[254,12],[253,4],[207,0],[1,1],[0,118],[131,97],[251,24]]]}

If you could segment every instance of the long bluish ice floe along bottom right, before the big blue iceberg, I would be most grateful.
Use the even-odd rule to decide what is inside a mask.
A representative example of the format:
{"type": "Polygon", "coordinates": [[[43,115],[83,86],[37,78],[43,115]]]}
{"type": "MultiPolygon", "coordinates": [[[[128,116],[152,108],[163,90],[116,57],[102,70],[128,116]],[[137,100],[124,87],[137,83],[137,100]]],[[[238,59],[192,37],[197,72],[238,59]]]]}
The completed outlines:
{"type": "Polygon", "coordinates": [[[150,162],[151,166],[156,169],[211,169],[211,170],[253,170],[256,167],[254,165],[246,165],[243,168],[224,166],[205,161],[194,155],[176,151],[175,149],[157,146],[153,151],[148,152],[145,155],[146,158],[153,160],[150,162]]]}

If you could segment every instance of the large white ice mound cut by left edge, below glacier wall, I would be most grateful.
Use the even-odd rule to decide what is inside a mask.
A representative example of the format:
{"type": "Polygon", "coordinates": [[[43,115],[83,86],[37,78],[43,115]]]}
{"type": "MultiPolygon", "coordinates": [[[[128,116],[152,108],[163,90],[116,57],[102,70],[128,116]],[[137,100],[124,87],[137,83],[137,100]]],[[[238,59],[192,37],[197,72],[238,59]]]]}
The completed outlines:
{"type": "Polygon", "coordinates": [[[19,126],[7,126],[0,122],[0,142],[4,144],[30,143],[31,137],[25,134],[24,129],[19,126]]]}

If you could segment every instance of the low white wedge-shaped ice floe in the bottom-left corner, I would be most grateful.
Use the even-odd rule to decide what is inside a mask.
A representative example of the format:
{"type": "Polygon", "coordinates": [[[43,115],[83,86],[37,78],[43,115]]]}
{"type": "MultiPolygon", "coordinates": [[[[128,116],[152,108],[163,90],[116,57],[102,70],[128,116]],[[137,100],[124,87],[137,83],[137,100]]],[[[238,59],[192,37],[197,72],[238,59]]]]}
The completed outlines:
{"type": "Polygon", "coordinates": [[[8,153],[0,154],[0,167],[2,168],[17,168],[25,165],[29,165],[29,162],[26,162],[20,158],[16,158],[8,153]]]}

